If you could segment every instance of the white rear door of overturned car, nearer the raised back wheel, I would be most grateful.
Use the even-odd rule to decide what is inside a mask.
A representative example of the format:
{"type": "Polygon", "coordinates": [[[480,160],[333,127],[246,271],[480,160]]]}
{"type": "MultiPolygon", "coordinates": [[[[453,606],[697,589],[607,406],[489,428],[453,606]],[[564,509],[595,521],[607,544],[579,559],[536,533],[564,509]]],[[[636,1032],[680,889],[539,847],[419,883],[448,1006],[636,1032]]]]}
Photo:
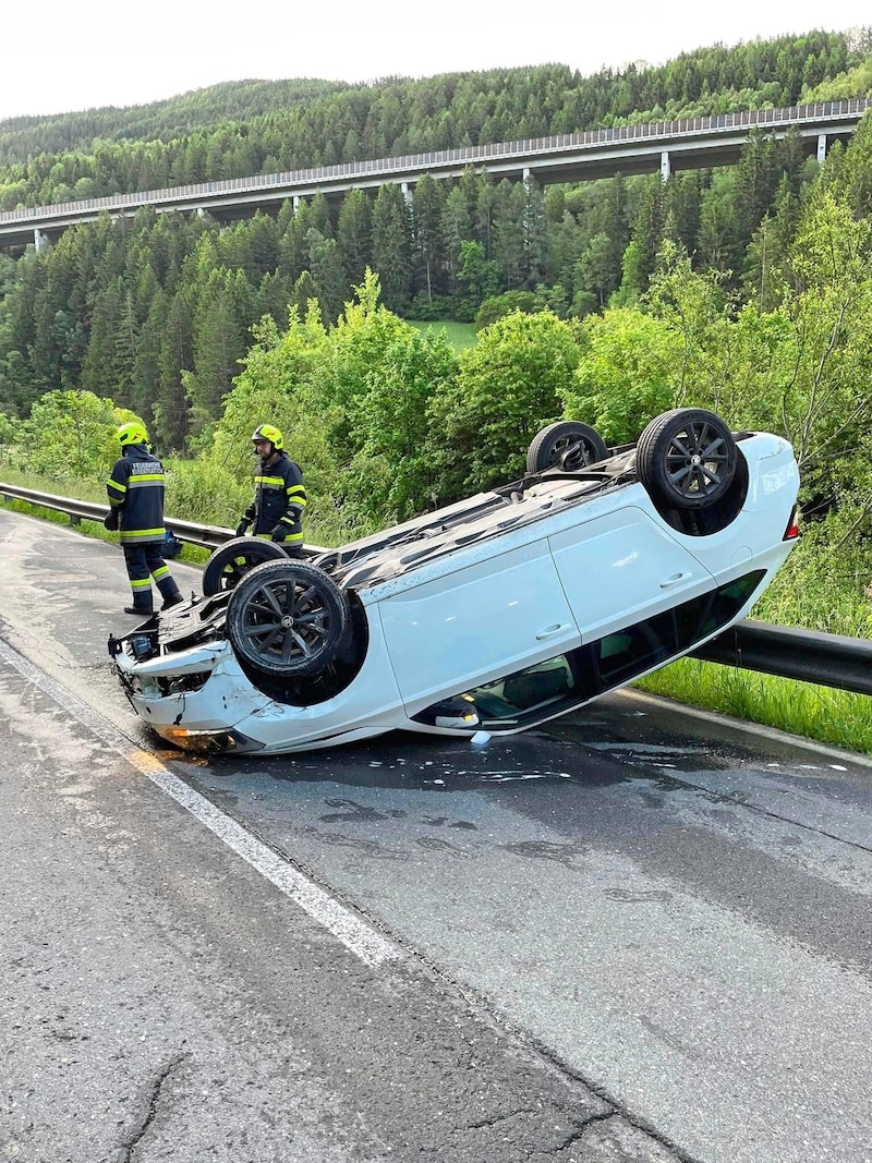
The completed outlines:
{"type": "Polygon", "coordinates": [[[589,642],[714,588],[715,579],[644,509],[623,506],[549,538],[570,609],[589,642]]]}

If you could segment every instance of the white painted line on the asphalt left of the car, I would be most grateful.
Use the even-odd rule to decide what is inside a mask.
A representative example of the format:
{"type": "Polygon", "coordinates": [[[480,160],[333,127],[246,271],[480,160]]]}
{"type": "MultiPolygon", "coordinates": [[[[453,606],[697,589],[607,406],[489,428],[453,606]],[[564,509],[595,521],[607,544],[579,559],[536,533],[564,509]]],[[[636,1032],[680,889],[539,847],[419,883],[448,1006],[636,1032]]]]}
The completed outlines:
{"type": "Polygon", "coordinates": [[[135,744],[131,745],[130,741],[93,707],[77,699],[65,686],[56,683],[55,679],[2,641],[0,641],[0,657],[5,658],[29,683],[33,683],[34,686],[92,730],[103,743],[117,751],[131,766],[146,776],[167,795],[171,795],[177,804],[203,823],[228,848],[242,856],[280,892],[305,909],[314,921],[333,933],[360,961],[376,968],[383,962],[396,961],[405,956],[392,941],[381,936],[302,872],[283,861],[271,848],[267,848],[266,844],[246,832],[242,825],[215,807],[205,795],[188,787],[156,756],[143,751],[135,744]]]}

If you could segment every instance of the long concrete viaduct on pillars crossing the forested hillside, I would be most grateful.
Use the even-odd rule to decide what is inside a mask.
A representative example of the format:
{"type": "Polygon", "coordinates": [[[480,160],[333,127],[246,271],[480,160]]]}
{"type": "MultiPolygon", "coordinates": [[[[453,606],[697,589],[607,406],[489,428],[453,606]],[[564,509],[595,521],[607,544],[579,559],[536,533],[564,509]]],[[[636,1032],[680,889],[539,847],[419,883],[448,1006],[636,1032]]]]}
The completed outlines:
{"type": "Polygon", "coordinates": [[[2,211],[0,248],[20,251],[34,243],[38,250],[47,240],[57,238],[70,226],[93,222],[100,214],[130,215],[142,206],[152,206],[164,213],[208,213],[219,221],[231,221],[258,209],[274,211],[287,199],[298,204],[319,191],[328,197],[341,195],[353,188],[371,190],[396,183],[412,197],[423,173],[434,178],[459,178],[469,167],[486,171],[496,180],[535,177],[539,185],[588,181],[619,172],[659,171],[666,180],[678,170],[735,164],[753,129],[775,138],[793,129],[805,151],[822,162],[834,141],[846,141],[851,136],[870,105],[872,100],[855,98],[786,109],[682,117],[2,211]]]}

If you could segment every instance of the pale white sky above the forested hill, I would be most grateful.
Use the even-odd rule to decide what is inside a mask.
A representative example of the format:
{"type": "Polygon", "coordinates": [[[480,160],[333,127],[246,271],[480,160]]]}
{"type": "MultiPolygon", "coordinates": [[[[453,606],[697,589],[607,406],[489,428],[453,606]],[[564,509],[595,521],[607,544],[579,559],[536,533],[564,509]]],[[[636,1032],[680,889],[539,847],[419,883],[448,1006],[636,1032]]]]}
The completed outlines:
{"type": "Polygon", "coordinates": [[[582,76],[694,49],[872,24],[869,0],[43,0],[3,5],[0,121],[144,105],[228,80],[385,77],[558,63],[582,76]]]}

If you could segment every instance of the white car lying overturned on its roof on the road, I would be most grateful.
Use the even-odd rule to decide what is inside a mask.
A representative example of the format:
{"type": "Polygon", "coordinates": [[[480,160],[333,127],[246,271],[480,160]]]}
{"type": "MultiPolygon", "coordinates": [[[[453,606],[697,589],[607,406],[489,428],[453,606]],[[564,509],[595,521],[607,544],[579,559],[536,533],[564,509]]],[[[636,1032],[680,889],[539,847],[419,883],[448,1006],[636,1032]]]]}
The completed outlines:
{"type": "Polygon", "coordinates": [[[612,450],[550,424],[527,469],[305,562],[229,541],[203,598],[109,640],[134,708],[179,747],[260,755],[524,730],[744,618],[799,535],[791,445],[699,408],[612,450]]]}

